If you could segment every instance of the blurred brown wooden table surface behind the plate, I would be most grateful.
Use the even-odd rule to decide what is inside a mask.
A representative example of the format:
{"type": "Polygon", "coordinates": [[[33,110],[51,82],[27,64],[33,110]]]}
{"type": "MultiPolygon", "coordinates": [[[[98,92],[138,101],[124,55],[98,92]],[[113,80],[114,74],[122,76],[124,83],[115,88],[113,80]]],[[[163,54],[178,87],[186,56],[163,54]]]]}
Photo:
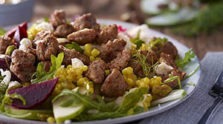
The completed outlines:
{"type": "MultiPolygon", "coordinates": [[[[97,18],[120,20],[121,14],[128,11],[127,0],[37,0],[33,21],[48,17],[55,9],[64,9],[68,17],[91,12],[97,18]],[[85,8],[85,9],[83,9],[85,8]]],[[[223,51],[223,26],[211,34],[184,37],[173,34],[168,28],[155,29],[192,48],[200,59],[208,51],[223,51]]]]}

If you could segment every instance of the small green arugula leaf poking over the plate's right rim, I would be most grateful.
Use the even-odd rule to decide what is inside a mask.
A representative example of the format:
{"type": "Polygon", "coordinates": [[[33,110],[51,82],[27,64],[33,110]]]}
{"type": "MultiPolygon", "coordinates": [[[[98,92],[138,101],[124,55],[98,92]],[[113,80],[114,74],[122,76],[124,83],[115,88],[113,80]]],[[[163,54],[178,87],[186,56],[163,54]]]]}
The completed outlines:
{"type": "Polygon", "coordinates": [[[194,57],[195,57],[195,54],[192,51],[192,49],[190,49],[189,51],[185,53],[184,58],[176,60],[176,64],[178,67],[184,68],[194,57]]]}

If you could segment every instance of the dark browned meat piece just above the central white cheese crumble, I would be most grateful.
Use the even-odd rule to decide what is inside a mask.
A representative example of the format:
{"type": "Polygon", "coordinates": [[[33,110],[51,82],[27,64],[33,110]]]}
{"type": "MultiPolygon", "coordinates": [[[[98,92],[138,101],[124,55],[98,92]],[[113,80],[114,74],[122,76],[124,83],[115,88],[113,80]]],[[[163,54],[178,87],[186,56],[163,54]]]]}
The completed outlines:
{"type": "Polygon", "coordinates": [[[67,49],[66,47],[59,45],[60,52],[64,52],[63,64],[70,65],[72,58],[80,59],[85,65],[89,65],[90,59],[88,56],[79,53],[75,49],[67,49]]]}

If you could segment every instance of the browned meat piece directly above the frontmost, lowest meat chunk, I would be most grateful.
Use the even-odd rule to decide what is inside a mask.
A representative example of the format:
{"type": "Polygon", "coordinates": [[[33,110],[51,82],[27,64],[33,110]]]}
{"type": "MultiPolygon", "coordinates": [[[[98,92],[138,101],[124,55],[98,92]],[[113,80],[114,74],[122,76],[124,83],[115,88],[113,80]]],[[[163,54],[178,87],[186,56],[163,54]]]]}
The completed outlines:
{"type": "Polygon", "coordinates": [[[118,70],[124,69],[131,58],[130,50],[123,50],[118,56],[113,59],[108,65],[110,69],[117,68],[118,70]]]}

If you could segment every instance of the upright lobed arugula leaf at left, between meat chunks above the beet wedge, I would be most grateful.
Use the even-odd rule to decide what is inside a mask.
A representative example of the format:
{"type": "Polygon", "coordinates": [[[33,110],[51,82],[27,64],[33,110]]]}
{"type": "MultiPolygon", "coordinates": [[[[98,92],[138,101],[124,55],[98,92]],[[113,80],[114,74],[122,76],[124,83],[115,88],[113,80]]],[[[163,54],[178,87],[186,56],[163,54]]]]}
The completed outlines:
{"type": "Polygon", "coordinates": [[[37,65],[36,72],[33,75],[34,79],[31,80],[31,83],[38,83],[38,82],[43,82],[45,80],[52,79],[56,70],[61,67],[63,58],[64,58],[64,53],[59,53],[57,57],[54,55],[51,55],[52,65],[50,66],[50,70],[48,72],[45,71],[43,63],[40,62],[37,65]]]}

